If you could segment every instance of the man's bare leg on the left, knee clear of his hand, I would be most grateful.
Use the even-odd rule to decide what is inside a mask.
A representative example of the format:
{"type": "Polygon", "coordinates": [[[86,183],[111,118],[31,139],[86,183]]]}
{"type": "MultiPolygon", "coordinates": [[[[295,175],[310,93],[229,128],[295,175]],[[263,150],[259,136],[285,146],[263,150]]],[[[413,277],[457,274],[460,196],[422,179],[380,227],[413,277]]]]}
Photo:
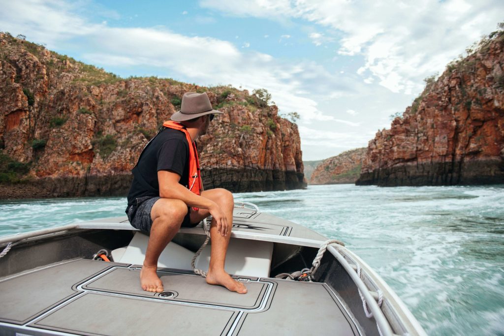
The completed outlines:
{"type": "Polygon", "coordinates": [[[179,199],[160,198],[151,210],[152,227],[140,272],[142,289],[148,292],[163,291],[163,283],[157,276],[159,255],[180,229],[187,214],[187,206],[179,199]]]}

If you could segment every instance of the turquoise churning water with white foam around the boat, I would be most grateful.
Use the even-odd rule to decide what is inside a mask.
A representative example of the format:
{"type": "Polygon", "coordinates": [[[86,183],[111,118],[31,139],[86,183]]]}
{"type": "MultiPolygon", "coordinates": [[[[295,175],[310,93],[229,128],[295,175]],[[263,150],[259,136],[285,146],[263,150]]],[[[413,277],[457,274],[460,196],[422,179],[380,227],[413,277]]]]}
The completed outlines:
{"type": "MultiPolygon", "coordinates": [[[[428,334],[504,335],[504,186],[326,185],[235,194],[343,240],[428,334]]],[[[125,198],[0,201],[0,235],[124,215],[125,198]]]]}

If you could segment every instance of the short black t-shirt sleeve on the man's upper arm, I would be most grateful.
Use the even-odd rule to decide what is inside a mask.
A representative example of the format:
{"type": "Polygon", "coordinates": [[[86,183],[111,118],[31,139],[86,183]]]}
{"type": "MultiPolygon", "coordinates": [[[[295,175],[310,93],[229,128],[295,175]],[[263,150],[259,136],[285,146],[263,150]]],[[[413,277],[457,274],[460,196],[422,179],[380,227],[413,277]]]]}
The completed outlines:
{"type": "Polygon", "coordinates": [[[185,169],[185,163],[189,156],[189,146],[187,141],[179,139],[170,139],[165,141],[158,150],[157,171],[171,170],[182,176],[185,169]]]}

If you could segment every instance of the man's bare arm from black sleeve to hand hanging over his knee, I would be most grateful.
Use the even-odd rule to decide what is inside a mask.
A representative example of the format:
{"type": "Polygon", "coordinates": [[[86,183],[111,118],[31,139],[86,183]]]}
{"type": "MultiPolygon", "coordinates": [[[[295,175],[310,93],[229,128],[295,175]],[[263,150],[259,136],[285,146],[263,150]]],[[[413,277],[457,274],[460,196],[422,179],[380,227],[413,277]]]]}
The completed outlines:
{"type": "Polygon", "coordinates": [[[227,224],[226,215],[222,211],[221,207],[213,200],[198,196],[191,190],[185,188],[183,185],[178,183],[179,180],[180,175],[177,173],[167,170],[159,170],[159,196],[162,198],[180,199],[183,203],[190,207],[208,209],[210,215],[212,215],[212,217],[216,220],[217,231],[222,236],[227,235],[229,226],[227,224]]]}

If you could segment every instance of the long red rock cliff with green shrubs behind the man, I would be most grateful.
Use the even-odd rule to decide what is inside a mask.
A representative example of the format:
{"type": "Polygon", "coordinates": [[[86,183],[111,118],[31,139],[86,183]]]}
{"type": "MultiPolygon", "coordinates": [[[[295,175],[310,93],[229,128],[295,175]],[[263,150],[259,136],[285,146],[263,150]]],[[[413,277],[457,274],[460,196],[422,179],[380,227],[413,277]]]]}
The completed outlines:
{"type": "Polygon", "coordinates": [[[143,147],[188,91],[225,112],[199,141],[205,188],[304,187],[297,125],[257,95],[124,80],[0,33],[0,198],[125,195],[143,147]]]}

